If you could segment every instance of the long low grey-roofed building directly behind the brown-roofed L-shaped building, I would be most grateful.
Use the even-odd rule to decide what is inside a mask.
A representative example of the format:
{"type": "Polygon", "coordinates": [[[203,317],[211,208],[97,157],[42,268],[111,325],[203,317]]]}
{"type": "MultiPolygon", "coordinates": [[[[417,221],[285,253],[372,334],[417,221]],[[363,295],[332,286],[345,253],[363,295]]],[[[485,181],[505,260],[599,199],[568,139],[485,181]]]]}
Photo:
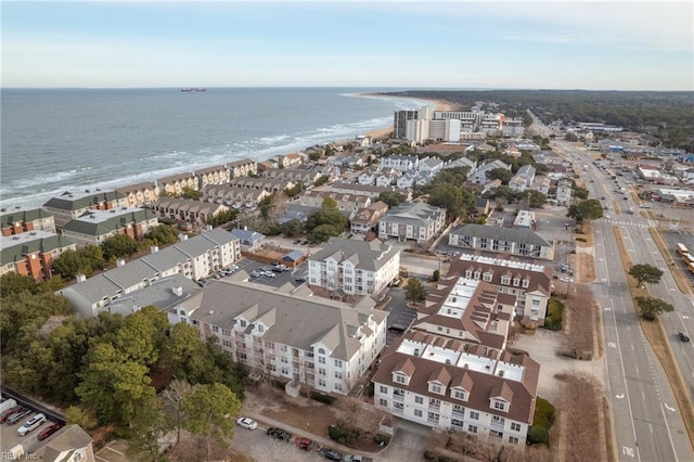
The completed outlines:
{"type": "Polygon", "coordinates": [[[526,229],[463,224],[448,235],[448,245],[528,258],[554,260],[554,243],[526,229]]]}

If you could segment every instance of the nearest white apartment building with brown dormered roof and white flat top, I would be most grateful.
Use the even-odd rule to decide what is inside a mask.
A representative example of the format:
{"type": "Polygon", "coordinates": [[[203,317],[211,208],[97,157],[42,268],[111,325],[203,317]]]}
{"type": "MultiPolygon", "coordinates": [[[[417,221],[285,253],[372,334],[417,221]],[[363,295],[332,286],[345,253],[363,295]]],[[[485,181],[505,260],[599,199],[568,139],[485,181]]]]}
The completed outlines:
{"type": "Polygon", "coordinates": [[[398,338],[373,377],[374,405],[434,428],[523,446],[532,425],[540,365],[527,355],[485,356],[420,333],[398,338]]]}

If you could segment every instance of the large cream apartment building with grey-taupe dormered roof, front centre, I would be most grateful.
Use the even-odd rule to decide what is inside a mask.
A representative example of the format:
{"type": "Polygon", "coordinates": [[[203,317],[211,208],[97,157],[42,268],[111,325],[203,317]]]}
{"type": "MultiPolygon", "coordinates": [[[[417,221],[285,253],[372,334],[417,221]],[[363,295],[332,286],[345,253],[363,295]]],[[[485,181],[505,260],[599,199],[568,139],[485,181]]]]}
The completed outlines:
{"type": "Polygon", "coordinates": [[[292,396],[303,387],[347,395],[385,347],[387,312],[372,309],[370,297],[350,305],[314,297],[306,285],[275,288],[242,278],[213,282],[170,318],[218,337],[250,378],[283,381],[292,396]]]}

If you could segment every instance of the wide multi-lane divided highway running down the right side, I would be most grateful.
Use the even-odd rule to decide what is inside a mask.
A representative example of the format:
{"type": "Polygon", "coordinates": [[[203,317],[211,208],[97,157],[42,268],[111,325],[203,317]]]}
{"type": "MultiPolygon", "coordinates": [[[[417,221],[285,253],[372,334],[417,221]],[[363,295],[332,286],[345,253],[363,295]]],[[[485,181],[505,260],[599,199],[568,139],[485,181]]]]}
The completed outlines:
{"type": "MultiPolygon", "coordinates": [[[[629,256],[634,264],[648,264],[668,268],[656,247],[648,228],[654,226],[639,214],[621,210],[638,208],[632,197],[615,195],[614,181],[606,181],[605,174],[595,168],[593,161],[582,150],[570,143],[556,141],[560,151],[579,165],[589,165],[583,171],[592,196],[606,196],[606,201],[619,204],[611,210],[609,219],[593,223],[596,280],[591,284],[595,298],[603,309],[603,324],[608,369],[608,394],[614,414],[615,436],[619,460],[622,461],[691,461],[694,460],[684,423],[677,409],[667,377],[645,341],[634,311],[627,275],[621,266],[615,227],[619,228],[629,256]],[[593,181],[590,181],[590,180],[593,181]]],[[[673,304],[673,313],[663,316],[666,332],[682,329],[694,331],[694,304],[677,290],[669,271],[663,281],[650,287],[654,297],[673,304]],[[686,323],[686,325],[685,325],[686,323]]],[[[676,342],[670,336],[678,365],[689,383],[694,377],[691,344],[676,342]],[[687,355],[690,358],[687,358],[687,355]]]]}

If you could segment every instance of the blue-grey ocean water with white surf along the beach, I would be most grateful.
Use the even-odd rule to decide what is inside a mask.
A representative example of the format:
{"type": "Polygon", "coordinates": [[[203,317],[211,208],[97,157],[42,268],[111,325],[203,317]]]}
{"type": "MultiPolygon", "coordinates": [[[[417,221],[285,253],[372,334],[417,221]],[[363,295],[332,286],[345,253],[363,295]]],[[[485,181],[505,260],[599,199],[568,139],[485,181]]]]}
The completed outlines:
{"type": "Polygon", "coordinates": [[[3,89],[2,208],[351,140],[427,104],[360,95],[388,90],[3,89]]]}

